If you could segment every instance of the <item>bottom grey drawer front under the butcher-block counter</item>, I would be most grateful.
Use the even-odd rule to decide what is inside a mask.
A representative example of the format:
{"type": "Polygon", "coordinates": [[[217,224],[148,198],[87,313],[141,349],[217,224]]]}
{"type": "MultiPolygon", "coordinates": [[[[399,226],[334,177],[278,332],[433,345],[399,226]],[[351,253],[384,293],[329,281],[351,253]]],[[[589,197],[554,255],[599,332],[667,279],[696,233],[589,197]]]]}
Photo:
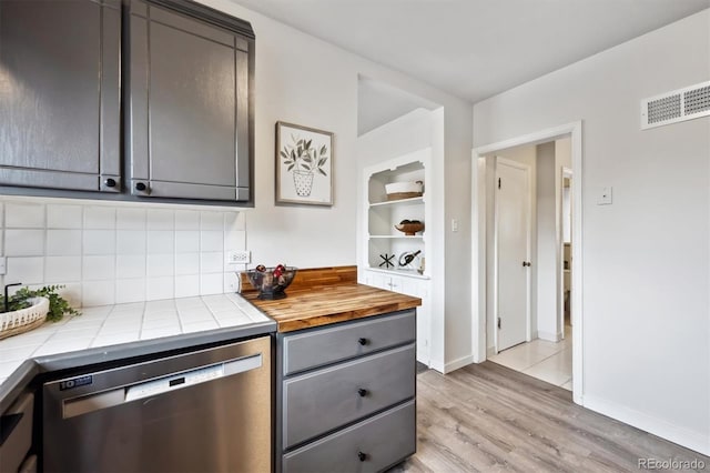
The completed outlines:
{"type": "Polygon", "coordinates": [[[283,471],[377,472],[412,455],[416,445],[416,407],[409,401],[284,455],[283,471]]]}

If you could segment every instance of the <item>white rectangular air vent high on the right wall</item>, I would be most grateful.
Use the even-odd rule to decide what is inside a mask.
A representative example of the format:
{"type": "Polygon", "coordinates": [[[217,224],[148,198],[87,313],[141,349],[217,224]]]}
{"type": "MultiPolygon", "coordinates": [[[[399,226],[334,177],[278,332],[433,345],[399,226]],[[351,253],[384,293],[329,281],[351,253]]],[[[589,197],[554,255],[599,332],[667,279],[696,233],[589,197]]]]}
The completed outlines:
{"type": "Polygon", "coordinates": [[[710,81],[641,100],[641,130],[710,115],[710,81]]]}

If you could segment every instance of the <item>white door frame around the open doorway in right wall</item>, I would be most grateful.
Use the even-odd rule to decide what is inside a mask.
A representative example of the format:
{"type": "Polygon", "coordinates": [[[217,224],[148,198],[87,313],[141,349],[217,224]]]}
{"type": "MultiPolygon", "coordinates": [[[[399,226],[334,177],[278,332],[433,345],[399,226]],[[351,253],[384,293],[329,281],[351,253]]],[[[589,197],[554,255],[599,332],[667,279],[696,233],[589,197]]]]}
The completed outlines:
{"type": "Polygon", "coordinates": [[[471,150],[471,348],[474,362],[486,361],[486,181],[485,157],[507,148],[539,144],[558,138],[571,138],[572,173],[577,187],[572,195],[572,400],[584,405],[584,312],[582,312],[582,121],[535,131],[471,150]],[[477,290],[476,290],[477,289],[477,290]]]}

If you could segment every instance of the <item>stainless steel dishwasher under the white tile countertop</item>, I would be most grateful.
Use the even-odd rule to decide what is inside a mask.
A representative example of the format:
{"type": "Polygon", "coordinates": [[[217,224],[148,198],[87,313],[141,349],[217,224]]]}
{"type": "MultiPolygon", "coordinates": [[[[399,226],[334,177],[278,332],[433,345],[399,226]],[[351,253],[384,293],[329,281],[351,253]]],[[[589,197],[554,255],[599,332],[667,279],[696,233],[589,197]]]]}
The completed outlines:
{"type": "Polygon", "coordinates": [[[48,382],[45,472],[270,472],[271,339],[48,382]]]}

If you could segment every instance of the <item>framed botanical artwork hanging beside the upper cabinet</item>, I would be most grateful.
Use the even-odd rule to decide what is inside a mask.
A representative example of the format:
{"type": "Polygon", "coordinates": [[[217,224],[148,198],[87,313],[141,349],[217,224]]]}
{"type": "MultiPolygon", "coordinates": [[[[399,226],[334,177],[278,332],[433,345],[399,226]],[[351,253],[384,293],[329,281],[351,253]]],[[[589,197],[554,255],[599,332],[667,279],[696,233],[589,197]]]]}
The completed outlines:
{"type": "Polygon", "coordinates": [[[333,133],[276,122],[276,203],[333,205],[333,133]]]}

